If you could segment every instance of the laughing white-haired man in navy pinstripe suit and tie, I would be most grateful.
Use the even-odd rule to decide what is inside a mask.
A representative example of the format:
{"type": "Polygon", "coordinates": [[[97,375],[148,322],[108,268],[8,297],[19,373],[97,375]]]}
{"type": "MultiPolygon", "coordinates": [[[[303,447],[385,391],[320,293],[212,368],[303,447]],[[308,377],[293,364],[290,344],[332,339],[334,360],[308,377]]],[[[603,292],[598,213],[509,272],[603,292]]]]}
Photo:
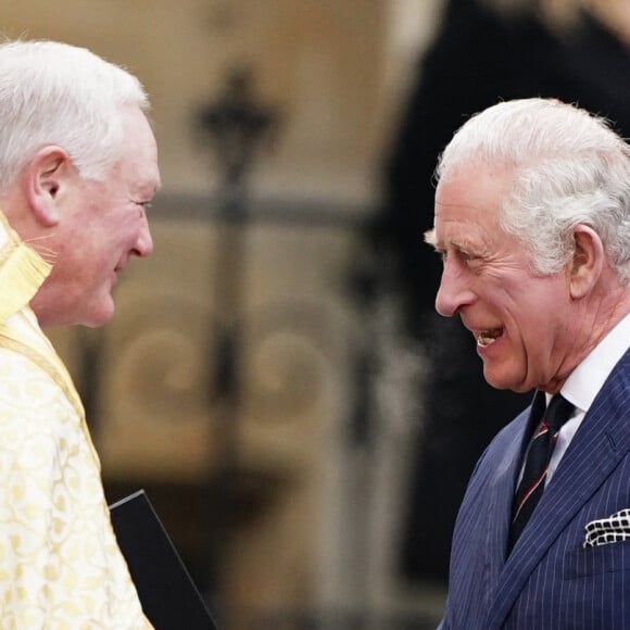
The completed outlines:
{"type": "Polygon", "coordinates": [[[516,100],[472,116],[437,175],[437,310],[490,385],[537,390],[469,482],[441,628],[630,628],[630,149],[516,100]]]}

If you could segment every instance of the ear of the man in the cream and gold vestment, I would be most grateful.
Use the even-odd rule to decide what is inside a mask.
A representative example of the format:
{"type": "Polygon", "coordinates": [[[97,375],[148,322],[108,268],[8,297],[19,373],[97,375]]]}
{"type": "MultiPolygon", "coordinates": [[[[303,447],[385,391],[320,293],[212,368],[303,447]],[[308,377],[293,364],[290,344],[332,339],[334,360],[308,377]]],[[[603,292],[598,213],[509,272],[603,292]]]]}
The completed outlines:
{"type": "Polygon", "coordinates": [[[60,196],[65,192],[74,166],[61,147],[43,147],[24,166],[21,179],[28,204],[38,223],[52,227],[60,219],[60,196]]]}

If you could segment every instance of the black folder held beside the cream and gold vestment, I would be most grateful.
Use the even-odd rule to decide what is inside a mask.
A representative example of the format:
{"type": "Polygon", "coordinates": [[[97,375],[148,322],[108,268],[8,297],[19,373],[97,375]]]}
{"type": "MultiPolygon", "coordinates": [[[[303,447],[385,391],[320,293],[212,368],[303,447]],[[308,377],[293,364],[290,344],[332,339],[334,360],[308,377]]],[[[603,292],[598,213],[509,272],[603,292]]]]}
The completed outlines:
{"type": "Polygon", "coordinates": [[[110,513],[142,609],[155,630],[216,630],[146,492],[114,503],[110,513]]]}

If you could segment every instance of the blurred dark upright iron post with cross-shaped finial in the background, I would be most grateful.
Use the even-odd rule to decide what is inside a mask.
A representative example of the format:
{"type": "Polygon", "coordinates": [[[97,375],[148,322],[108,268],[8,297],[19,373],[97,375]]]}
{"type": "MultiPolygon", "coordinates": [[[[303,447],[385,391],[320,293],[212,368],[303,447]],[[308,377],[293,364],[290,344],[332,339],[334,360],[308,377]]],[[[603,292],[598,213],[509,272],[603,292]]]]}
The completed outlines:
{"type": "Polygon", "coordinates": [[[211,596],[220,594],[220,567],[226,559],[228,537],[238,507],[242,469],[238,459],[238,416],[241,407],[241,324],[243,280],[247,270],[247,228],[250,222],[248,186],[260,148],[276,128],[276,114],[256,102],[253,74],[239,67],[228,73],[216,101],[204,106],[198,128],[207,139],[222,175],[216,220],[215,267],[212,270],[213,311],[219,322],[210,323],[209,403],[218,462],[212,467],[210,486],[211,540],[209,584],[211,596]]]}

